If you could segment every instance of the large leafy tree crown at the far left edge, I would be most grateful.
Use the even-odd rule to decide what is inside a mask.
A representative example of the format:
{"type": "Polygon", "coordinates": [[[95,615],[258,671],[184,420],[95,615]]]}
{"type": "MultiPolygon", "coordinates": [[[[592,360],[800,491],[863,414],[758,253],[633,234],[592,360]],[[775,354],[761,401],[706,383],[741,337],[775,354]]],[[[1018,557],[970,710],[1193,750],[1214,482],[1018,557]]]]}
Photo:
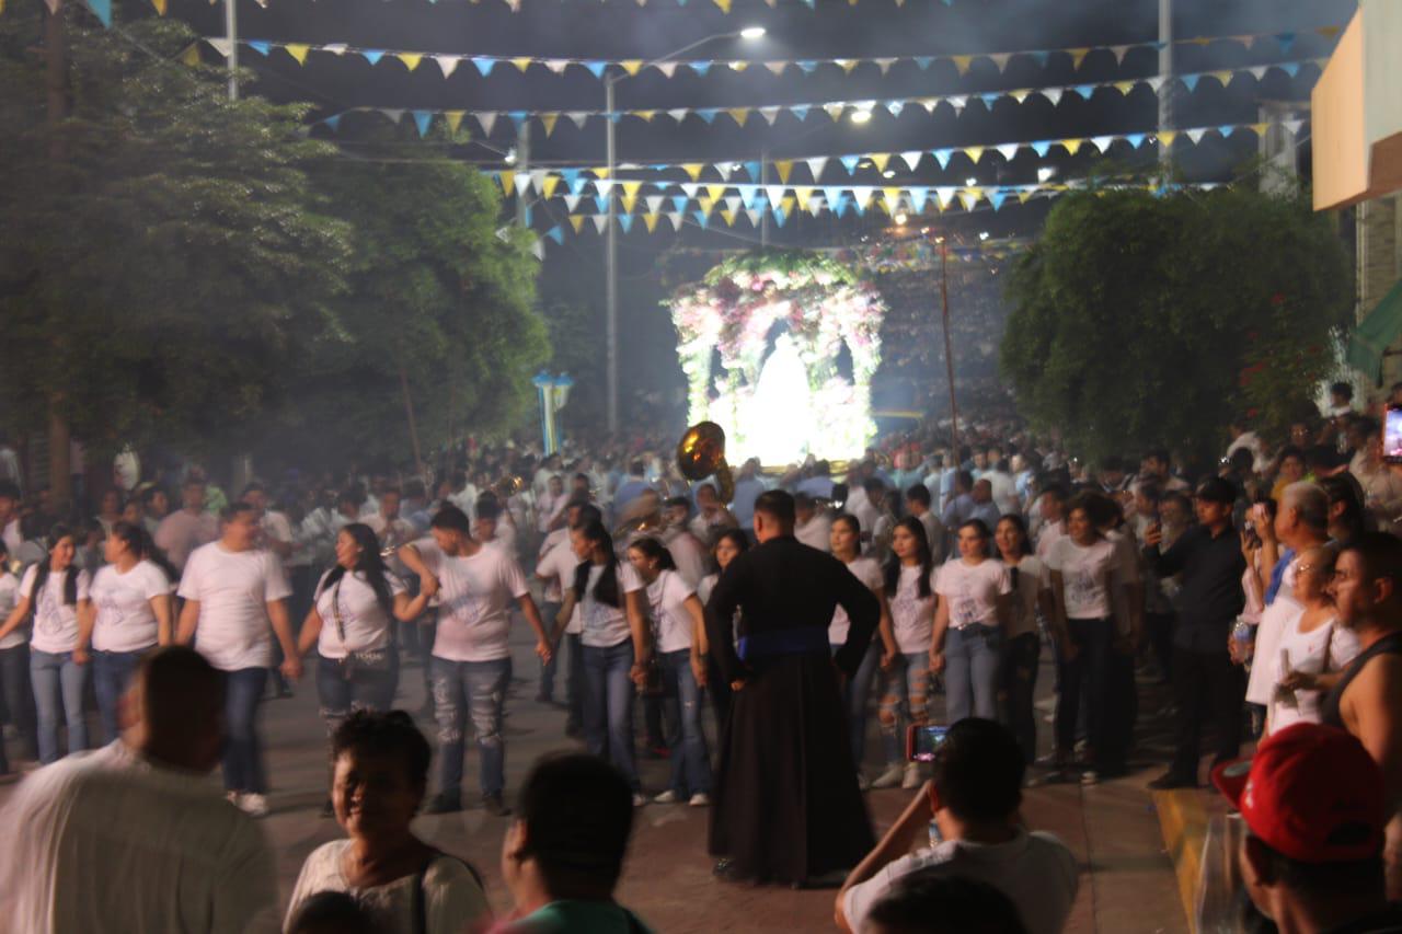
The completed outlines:
{"type": "Polygon", "coordinates": [[[238,446],[334,323],[349,229],[304,172],[334,150],[306,107],[230,102],[217,69],[177,60],[184,24],[107,31],[74,3],[73,104],[49,128],[38,8],[0,17],[0,418],[52,407],[98,450],[238,446]]]}

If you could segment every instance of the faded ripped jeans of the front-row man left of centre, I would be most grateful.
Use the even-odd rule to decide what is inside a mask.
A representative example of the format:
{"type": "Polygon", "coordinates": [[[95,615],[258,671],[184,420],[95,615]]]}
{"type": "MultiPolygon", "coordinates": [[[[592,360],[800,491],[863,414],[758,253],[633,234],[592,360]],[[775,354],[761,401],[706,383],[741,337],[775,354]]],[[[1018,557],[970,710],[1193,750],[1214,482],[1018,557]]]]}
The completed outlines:
{"type": "Polygon", "coordinates": [[[478,776],[482,797],[502,794],[506,787],[506,742],[502,739],[502,711],[506,686],[512,680],[509,658],[492,662],[450,662],[433,656],[433,719],[439,725],[439,764],[444,795],[461,795],[463,728],[472,719],[478,776]]]}

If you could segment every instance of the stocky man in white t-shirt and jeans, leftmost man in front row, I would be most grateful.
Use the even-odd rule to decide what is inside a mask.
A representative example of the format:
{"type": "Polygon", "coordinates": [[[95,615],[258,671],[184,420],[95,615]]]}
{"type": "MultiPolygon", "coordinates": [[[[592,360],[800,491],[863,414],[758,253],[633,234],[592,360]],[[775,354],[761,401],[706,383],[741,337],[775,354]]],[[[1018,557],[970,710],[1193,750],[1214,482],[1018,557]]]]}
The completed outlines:
{"type": "Polygon", "coordinates": [[[273,553],[257,547],[258,523],[245,502],[229,503],[219,541],[189,555],[178,596],[185,600],[175,641],[195,644],[224,672],[229,743],[224,790],[229,799],[261,818],[268,813],[258,704],[273,665],[273,637],[282,648],[282,675],[301,677],[301,661],[287,620],[287,575],[273,553]]]}

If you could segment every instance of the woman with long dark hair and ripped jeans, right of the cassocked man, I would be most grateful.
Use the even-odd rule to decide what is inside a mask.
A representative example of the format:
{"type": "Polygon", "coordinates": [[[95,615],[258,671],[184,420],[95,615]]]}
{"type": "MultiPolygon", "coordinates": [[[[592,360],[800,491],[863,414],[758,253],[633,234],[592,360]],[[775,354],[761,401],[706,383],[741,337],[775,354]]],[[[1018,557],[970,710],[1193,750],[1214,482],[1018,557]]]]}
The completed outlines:
{"type": "Polygon", "coordinates": [[[896,655],[882,672],[880,738],[886,771],[872,788],[918,788],[920,763],[906,762],[904,722],[930,722],[930,658],[935,632],[935,561],[925,526],[914,516],[890,532],[883,592],[890,607],[896,655]]]}

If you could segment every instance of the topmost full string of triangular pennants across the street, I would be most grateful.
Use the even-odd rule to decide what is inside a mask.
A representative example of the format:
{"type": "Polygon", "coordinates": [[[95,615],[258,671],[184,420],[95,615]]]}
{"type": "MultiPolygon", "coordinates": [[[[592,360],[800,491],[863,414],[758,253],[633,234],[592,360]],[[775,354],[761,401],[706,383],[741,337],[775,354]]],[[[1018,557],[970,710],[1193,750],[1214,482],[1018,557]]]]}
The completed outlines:
{"type": "MultiPolygon", "coordinates": [[[[1335,38],[1339,34],[1339,27],[1316,27],[1304,32],[1252,32],[1241,35],[1220,35],[1220,36],[1195,36],[1190,39],[1176,39],[1173,45],[1197,45],[1206,46],[1214,42],[1231,42],[1241,45],[1245,49],[1253,48],[1258,42],[1274,42],[1276,48],[1281,55],[1290,55],[1294,48],[1295,41],[1301,35],[1319,35],[1328,39],[1335,38]]],[[[229,39],[220,36],[206,38],[205,42],[210,45],[220,55],[227,56],[230,52],[229,39]]],[[[412,50],[412,49],[370,49],[362,46],[346,45],[343,42],[275,42],[272,39],[240,39],[240,45],[250,48],[259,55],[272,55],[273,50],[282,50],[289,55],[297,65],[306,65],[307,56],[313,52],[345,56],[355,55],[373,65],[398,62],[400,66],[408,69],[409,72],[416,72],[421,66],[433,63],[439,73],[446,79],[458,70],[463,65],[470,65],[471,69],[488,77],[496,67],[513,67],[517,72],[527,72],[533,67],[545,69],[554,74],[564,74],[569,69],[583,69],[585,72],[593,74],[596,79],[603,79],[608,72],[621,72],[625,74],[638,74],[644,70],[653,70],[665,77],[673,77],[679,73],[707,76],[715,72],[744,72],[747,69],[754,69],[756,72],[768,72],[775,76],[781,76],[789,69],[798,70],[801,74],[813,74],[819,69],[836,67],[841,69],[843,73],[851,74],[859,66],[873,66],[886,74],[896,65],[914,65],[921,72],[930,70],[938,62],[952,65],[955,70],[963,76],[977,62],[991,62],[997,70],[1001,73],[1007,70],[1008,63],[1014,59],[1025,57],[1030,59],[1037,65],[1047,65],[1053,55],[1070,56],[1074,67],[1080,69],[1081,65],[1089,57],[1092,52],[1108,52],[1115,56],[1116,63],[1123,63],[1124,56],[1134,49],[1152,49],[1158,50],[1164,48],[1162,42],[1127,42],[1123,45],[1088,45],[1078,48],[1063,48],[1063,49],[1025,49],[1016,52],[977,52],[966,55],[893,55],[893,56],[875,56],[875,57],[831,57],[831,59],[770,59],[770,60],[744,60],[744,59],[688,59],[676,60],[669,59],[666,62],[645,62],[644,59],[573,59],[573,57],[540,57],[540,56],[509,56],[509,55],[450,55],[442,52],[428,52],[428,50],[412,50]]]]}

